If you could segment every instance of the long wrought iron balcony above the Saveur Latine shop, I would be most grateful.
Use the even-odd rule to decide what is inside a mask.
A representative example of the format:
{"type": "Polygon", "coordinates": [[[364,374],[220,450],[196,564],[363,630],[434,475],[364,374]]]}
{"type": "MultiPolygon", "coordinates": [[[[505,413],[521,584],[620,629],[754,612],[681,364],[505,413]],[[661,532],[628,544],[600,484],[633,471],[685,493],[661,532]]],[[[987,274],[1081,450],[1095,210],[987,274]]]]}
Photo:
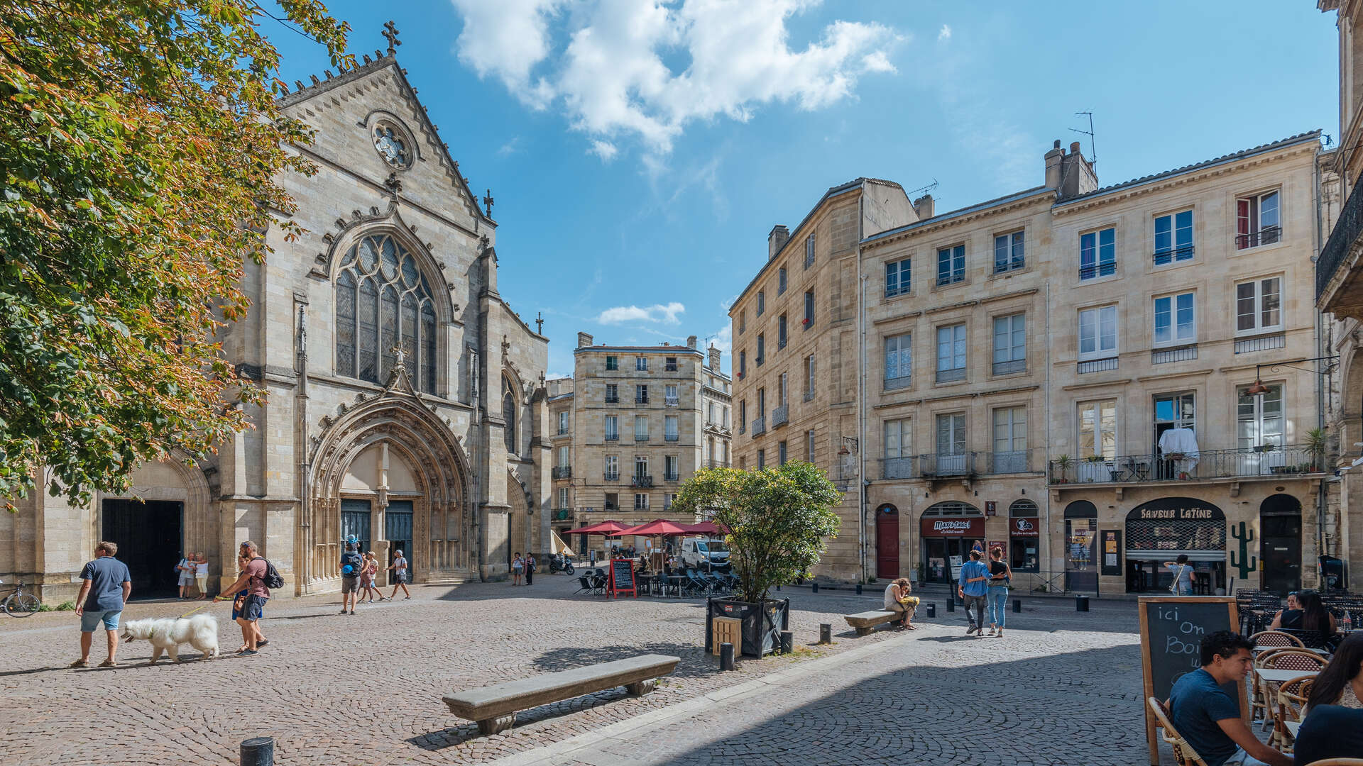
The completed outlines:
{"type": "Polygon", "coordinates": [[[1141,484],[1146,481],[1266,481],[1325,473],[1325,455],[1304,444],[1201,450],[1195,454],[1115,455],[1052,459],[1050,484],[1141,484]]]}

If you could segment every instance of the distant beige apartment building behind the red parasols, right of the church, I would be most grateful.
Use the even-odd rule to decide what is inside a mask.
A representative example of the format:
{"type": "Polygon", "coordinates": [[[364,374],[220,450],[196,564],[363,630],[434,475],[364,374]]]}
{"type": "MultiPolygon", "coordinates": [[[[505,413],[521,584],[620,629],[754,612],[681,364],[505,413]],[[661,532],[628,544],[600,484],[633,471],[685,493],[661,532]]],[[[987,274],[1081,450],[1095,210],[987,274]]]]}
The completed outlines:
{"type": "MultiPolygon", "coordinates": [[[[642,523],[672,514],[683,481],[702,466],[728,466],[731,380],[714,346],[593,345],[578,333],[574,375],[551,387],[553,529],[616,519],[642,523]]],[[[601,537],[570,541],[583,553],[601,537]]],[[[642,545],[643,542],[639,541],[642,545]]]]}

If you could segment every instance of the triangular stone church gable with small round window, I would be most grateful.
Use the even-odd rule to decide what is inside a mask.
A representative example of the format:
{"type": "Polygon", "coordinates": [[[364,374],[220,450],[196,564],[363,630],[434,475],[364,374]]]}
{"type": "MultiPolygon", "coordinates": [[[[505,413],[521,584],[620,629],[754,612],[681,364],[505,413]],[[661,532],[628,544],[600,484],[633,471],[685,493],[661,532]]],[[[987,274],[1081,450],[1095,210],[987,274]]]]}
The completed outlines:
{"type": "Polygon", "coordinates": [[[403,198],[485,232],[495,224],[478,209],[394,49],[375,56],[337,76],[313,75],[309,86],[297,82],[300,90],[281,98],[285,113],[315,129],[305,153],[373,184],[398,185],[403,198]]]}

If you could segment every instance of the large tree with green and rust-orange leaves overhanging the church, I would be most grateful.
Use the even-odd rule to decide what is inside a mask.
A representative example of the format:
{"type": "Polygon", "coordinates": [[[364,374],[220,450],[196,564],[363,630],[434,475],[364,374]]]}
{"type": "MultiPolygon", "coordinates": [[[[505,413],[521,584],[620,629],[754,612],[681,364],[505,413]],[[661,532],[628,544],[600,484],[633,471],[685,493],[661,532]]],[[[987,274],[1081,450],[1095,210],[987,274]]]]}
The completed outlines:
{"type": "Polygon", "coordinates": [[[277,177],[312,172],[258,23],[353,65],[320,1],[278,8],[0,0],[0,497],[50,466],[53,493],[89,502],[248,425],[263,394],[215,335],[245,315],[260,233],[297,236],[277,177]]]}

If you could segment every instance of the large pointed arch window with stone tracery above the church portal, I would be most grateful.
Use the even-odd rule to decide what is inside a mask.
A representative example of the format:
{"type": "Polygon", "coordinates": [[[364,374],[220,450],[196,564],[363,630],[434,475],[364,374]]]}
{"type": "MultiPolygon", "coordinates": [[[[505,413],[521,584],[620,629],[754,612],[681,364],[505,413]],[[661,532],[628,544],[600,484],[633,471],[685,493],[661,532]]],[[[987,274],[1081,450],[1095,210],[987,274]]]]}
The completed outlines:
{"type": "Polygon", "coordinates": [[[436,322],[416,256],[388,234],[360,239],[337,274],[337,373],[384,383],[406,352],[408,378],[435,393],[436,322]]]}

